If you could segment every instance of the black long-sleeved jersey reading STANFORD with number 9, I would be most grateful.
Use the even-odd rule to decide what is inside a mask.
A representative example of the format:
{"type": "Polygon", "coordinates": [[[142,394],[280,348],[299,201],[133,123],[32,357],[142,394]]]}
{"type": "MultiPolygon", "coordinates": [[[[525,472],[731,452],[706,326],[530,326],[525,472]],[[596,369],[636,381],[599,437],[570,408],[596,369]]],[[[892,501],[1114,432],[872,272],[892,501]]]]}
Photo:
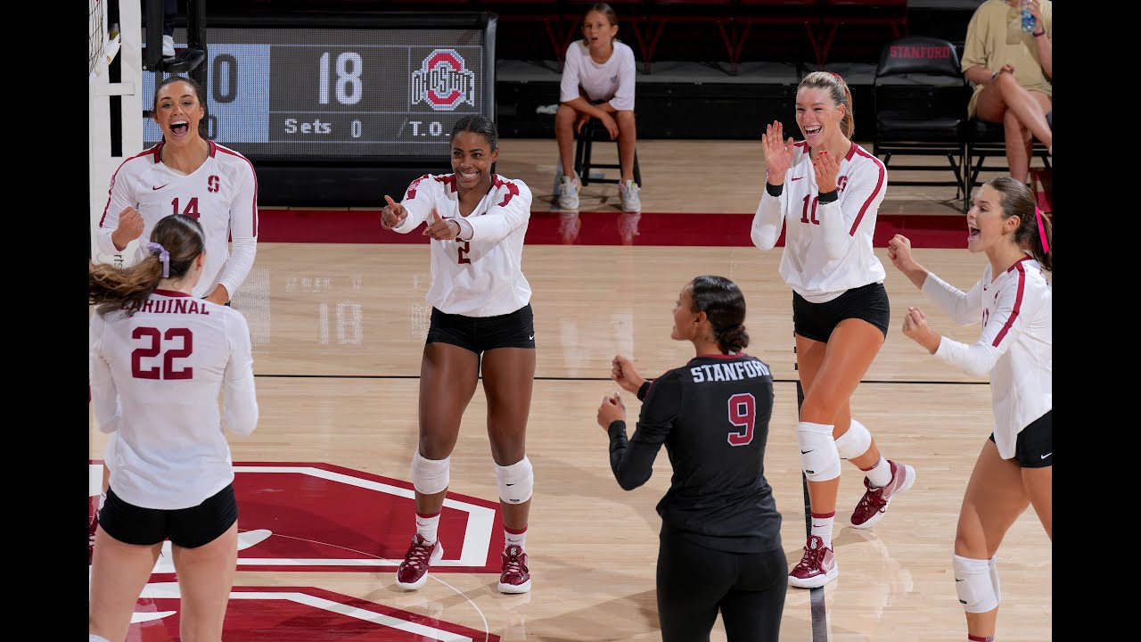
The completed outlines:
{"type": "Polygon", "coordinates": [[[780,513],[764,480],[772,375],[747,354],[696,356],[638,391],[638,430],[609,426],[610,468],[632,490],[649,479],[665,444],[673,465],[657,504],[663,525],[696,544],[735,553],[780,547],[780,513]]]}

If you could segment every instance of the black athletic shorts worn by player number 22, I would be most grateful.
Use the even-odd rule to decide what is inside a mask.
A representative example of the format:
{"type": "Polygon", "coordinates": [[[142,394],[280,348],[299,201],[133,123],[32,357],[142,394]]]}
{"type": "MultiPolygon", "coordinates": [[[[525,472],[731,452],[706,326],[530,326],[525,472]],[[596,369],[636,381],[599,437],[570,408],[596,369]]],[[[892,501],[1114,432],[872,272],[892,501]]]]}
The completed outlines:
{"type": "Polygon", "coordinates": [[[123,501],[107,488],[107,500],[99,511],[99,525],[107,535],[126,544],[149,546],[170,539],[184,548],[197,548],[218,539],[237,521],[234,484],[219,490],[202,504],[164,511],[140,508],[123,501]]]}

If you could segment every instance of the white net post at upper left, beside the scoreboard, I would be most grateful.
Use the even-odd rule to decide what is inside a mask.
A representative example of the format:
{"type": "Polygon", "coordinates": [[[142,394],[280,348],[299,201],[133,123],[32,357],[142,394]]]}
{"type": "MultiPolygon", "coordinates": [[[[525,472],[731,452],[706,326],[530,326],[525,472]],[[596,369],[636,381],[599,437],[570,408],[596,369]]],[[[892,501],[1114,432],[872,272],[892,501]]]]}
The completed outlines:
{"type": "MultiPolygon", "coordinates": [[[[88,0],[88,218],[90,259],[130,263],[137,241],[104,255],[95,244],[122,162],[143,151],[143,11],[139,0],[88,0]],[[114,24],[121,25],[115,29],[114,24]],[[118,31],[118,33],[116,33],[118,31]]],[[[116,212],[118,214],[118,212],[116,212]]]]}

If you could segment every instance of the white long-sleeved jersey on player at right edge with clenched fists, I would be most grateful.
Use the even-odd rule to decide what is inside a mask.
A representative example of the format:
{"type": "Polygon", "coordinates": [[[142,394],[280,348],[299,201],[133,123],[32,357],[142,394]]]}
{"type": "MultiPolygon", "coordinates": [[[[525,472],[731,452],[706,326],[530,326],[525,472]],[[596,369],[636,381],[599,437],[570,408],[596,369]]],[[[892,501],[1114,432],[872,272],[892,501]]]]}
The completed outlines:
{"type": "Polygon", "coordinates": [[[934,354],[976,377],[990,375],[995,444],[1003,459],[1014,457],[1018,433],[1053,408],[1053,305],[1042,265],[1027,256],[993,278],[987,264],[966,294],[929,273],[923,294],[957,323],[982,322],[972,345],[942,337],[934,354]]]}

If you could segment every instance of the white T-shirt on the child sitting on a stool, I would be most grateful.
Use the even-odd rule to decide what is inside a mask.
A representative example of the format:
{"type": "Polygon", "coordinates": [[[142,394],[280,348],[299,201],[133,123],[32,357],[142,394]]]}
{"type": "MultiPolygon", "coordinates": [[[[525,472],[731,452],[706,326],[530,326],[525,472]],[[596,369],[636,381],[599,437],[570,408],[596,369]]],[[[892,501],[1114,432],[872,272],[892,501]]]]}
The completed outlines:
{"type": "Polygon", "coordinates": [[[578,88],[592,103],[609,101],[615,110],[634,109],[634,51],[624,42],[614,41],[614,53],[602,64],[590,57],[585,40],[575,40],[567,48],[559,81],[559,102],[580,96],[578,88]]]}

